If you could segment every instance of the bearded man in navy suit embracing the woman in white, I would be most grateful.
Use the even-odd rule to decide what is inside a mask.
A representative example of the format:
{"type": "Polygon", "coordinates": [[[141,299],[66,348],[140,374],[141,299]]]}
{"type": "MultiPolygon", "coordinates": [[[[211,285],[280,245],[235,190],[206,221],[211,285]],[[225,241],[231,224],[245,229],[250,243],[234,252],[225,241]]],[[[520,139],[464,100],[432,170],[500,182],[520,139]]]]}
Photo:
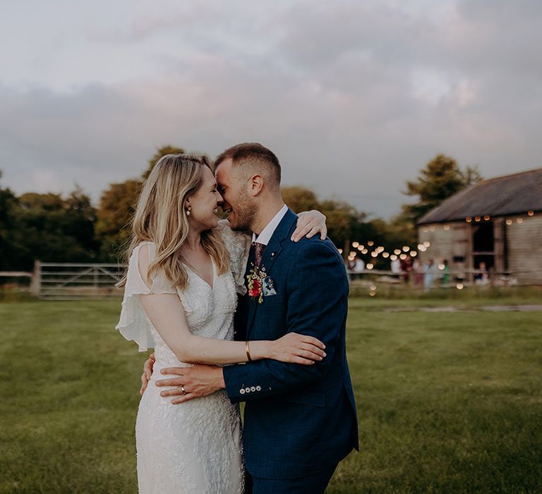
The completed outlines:
{"type": "MultiPolygon", "coordinates": [[[[176,403],[224,388],[232,402],[246,402],[243,447],[253,493],[320,493],[339,461],[358,447],[344,263],[329,239],[291,241],[297,217],[284,205],[279,161],[266,147],[230,147],[215,167],[231,228],[253,231],[236,339],[297,332],[324,342],[327,356],[311,366],[260,360],[169,368],[162,373],[178,377],[157,385],[177,386],[164,391],[176,403]]],[[[246,348],[250,360],[250,343],[246,348]]]]}

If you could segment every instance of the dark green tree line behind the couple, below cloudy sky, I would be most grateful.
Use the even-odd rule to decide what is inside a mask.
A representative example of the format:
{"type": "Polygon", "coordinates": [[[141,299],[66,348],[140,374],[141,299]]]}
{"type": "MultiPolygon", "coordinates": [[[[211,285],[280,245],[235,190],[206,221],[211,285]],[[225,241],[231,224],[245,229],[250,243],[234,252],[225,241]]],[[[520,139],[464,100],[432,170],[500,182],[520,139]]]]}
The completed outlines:
{"type": "MultiPolygon", "coordinates": [[[[0,271],[30,271],[35,260],[57,263],[116,263],[128,241],[128,223],[143,182],[163,155],[184,152],[167,145],[157,150],[141,176],[111,183],[97,207],[76,186],[68,195],[24,193],[16,195],[1,185],[0,172],[0,271]]],[[[282,188],[284,202],[295,212],[318,209],[327,216],[328,236],[345,251],[354,240],[371,240],[392,250],[417,243],[416,221],[442,200],[480,180],[476,168],[464,171],[451,157],[438,155],[414,181],[406,195],[416,197],[390,221],[370,218],[342,200],[324,199],[308,188],[282,188]]],[[[346,252],[345,252],[346,253],[346,252]]]]}

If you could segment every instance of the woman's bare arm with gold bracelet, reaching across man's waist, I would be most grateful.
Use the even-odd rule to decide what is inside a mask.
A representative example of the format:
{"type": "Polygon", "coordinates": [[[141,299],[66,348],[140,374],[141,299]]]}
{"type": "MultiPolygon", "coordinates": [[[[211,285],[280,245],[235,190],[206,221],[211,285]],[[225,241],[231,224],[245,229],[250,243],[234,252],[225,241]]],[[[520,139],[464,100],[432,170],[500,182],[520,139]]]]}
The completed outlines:
{"type": "MultiPolygon", "coordinates": [[[[140,248],[138,269],[141,278],[150,287],[147,249],[148,246],[140,248]]],[[[186,313],[176,294],[140,294],[139,297],[150,322],[179,361],[215,364],[248,361],[245,342],[193,335],[188,329],[186,313]]],[[[275,341],[250,342],[249,345],[252,360],[273,359],[310,365],[325,356],[325,346],[318,339],[296,333],[289,333],[275,341]]]]}

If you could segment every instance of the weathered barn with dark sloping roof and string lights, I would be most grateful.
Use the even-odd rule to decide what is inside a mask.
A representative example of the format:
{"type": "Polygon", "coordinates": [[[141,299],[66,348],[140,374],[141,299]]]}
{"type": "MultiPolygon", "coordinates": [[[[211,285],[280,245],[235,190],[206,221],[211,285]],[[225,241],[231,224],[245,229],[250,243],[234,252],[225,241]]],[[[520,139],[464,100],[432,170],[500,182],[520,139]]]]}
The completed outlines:
{"type": "Polygon", "coordinates": [[[418,220],[418,241],[421,260],[447,260],[467,281],[485,263],[495,284],[542,284],[542,169],[452,195],[418,220]]]}

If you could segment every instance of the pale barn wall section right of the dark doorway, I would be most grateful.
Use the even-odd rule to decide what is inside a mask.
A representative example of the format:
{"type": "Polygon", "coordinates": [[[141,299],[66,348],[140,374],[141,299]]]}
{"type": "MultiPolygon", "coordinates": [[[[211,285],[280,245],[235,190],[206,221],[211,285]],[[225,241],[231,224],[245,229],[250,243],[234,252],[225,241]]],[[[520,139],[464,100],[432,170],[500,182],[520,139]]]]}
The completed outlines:
{"type": "Polygon", "coordinates": [[[506,225],[508,270],[517,272],[512,276],[519,283],[542,284],[542,215],[509,219],[512,224],[506,225]]]}

